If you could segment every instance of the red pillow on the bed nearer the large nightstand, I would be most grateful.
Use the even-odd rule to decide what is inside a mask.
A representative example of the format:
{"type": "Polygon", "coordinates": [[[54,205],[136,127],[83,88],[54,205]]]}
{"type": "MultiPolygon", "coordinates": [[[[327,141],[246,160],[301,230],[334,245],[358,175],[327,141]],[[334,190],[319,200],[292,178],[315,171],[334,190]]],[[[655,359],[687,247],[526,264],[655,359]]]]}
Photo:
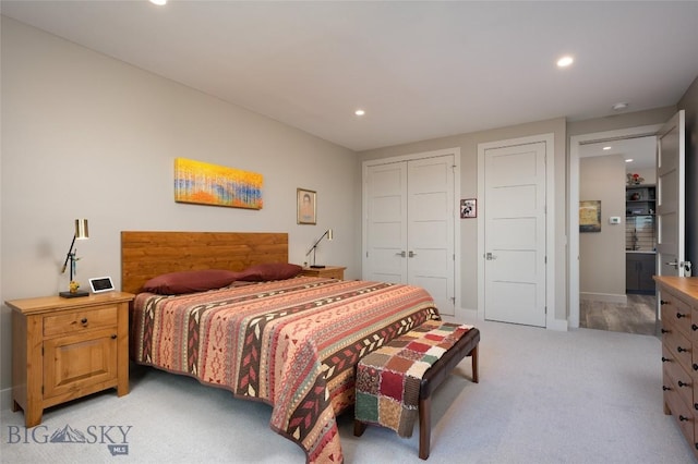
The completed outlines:
{"type": "Polygon", "coordinates": [[[234,282],[240,272],[225,269],[201,269],[164,273],[143,285],[143,290],[160,295],[179,295],[182,293],[205,292],[221,289],[234,282]]]}

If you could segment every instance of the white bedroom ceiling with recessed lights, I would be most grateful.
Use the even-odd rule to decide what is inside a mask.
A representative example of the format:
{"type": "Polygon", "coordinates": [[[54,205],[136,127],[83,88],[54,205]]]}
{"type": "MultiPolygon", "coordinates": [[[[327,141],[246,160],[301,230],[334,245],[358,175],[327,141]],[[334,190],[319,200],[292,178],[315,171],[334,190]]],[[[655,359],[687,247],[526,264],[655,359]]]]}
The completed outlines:
{"type": "Polygon", "coordinates": [[[2,14],[353,150],[676,105],[698,2],[2,1],[2,14]],[[571,68],[558,70],[564,53],[571,68]],[[366,114],[358,118],[357,108],[366,114]]]}

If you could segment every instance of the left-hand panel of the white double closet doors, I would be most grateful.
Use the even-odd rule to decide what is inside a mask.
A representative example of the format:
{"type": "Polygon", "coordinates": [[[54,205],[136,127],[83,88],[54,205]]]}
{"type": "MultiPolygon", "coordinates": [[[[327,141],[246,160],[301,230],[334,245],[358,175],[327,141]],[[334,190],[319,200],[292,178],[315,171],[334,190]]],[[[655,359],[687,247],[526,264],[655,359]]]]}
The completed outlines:
{"type": "Polygon", "coordinates": [[[406,283],[407,163],[368,167],[364,185],[364,279],[406,283]]]}

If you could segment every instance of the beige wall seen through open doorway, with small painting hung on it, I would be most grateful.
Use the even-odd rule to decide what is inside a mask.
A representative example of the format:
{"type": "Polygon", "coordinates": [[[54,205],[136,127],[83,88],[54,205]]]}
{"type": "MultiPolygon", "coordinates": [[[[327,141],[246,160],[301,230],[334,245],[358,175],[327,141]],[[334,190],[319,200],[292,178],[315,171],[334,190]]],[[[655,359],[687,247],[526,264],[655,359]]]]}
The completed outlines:
{"type": "Polygon", "coordinates": [[[590,300],[625,296],[625,160],[579,160],[579,200],[601,200],[601,231],[579,234],[579,292],[590,300]],[[619,224],[610,224],[617,216],[619,224]]]}

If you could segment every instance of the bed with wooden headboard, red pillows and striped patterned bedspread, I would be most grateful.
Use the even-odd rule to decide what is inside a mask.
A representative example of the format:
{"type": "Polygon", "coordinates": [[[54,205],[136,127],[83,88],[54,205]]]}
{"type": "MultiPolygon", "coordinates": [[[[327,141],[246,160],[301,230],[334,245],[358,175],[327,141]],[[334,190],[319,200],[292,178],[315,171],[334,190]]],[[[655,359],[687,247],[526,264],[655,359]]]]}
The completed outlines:
{"type": "Polygon", "coordinates": [[[310,463],[344,461],[336,416],[353,405],[358,361],[440,318],[421,288],[294,273],[284,233],[122,232],[121,254],[133,361],[270,404],[272,429],[310,463]],[[233,280],[153,285],[207,269],[233,280]]]}

